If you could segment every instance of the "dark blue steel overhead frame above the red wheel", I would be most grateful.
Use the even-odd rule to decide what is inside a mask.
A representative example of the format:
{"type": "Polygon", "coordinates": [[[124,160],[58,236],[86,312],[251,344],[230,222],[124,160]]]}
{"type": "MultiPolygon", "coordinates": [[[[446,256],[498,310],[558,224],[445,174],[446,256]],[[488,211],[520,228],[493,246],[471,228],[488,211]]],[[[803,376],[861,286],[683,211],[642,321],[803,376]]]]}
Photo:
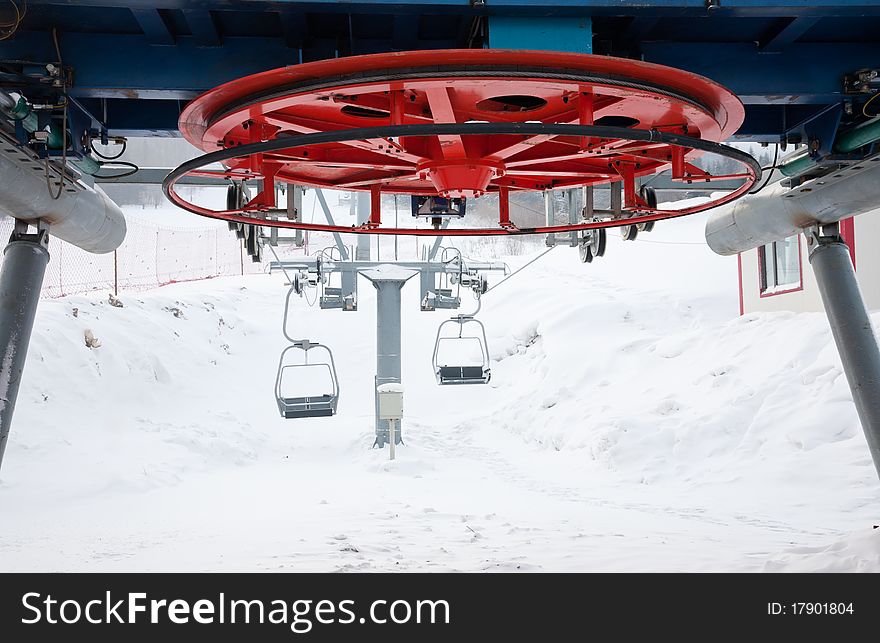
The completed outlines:
{"type": "MultiPolygon", "coordinates": [[[[747,103],[741,134],[768,141],[841,104],[844,74],[880,68],[878,0],[719,4],[28,0],[18,33],[0,42],[0,59],[55,60],[49,32],[57,27],[64,61],[74,69],[73,95],[112,97],[111,129],[156,134],[173,131],[179,100],[233,78],[337,55],[485,46],[488,19],[492,47],[588,52],[592,40],[598,53],[642,57],[713,78],[747,103]]],[[[99,100],[85,102],[103,113],[99,100]]]]}

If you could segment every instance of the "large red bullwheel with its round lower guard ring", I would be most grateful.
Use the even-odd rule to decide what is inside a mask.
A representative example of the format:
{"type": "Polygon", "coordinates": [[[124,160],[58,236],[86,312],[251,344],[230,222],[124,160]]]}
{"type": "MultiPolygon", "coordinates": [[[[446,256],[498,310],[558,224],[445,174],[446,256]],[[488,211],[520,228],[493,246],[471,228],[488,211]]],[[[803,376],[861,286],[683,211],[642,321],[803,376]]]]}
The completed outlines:
{"type": "MultiPolygon", "coordinates": [[[[511,190],[619,182],[627,223],[633,216],[656,220],[730,201],[755,182],[760,168],[751,157],[716,145],[743,117],[742,104],[723,87],[633,60],[482,49],[355,56],[256,74],[191,102],[180,130],[209,154],[201,164],[178,168],[165,187],[181,207],[232,221],[439,234],[384,228],[378,212],[369,226],[355,229],[266,215],[275,207],[273,186],[279,181],[369,190],[374,203],[381,192],[499,193],[506,199],[511,190]],[[692,162],[707,151],[735,158],[742,172],[718,177],[700,170],[692,162]],[[200,169],[212,161],[228,169],[200,169]],[[689,210],[657,210],[638,196],[636,180],[664,170],[683,183],[741,178],[743,187],[689,210]],[[185,202],[173,189],[177,179],[192,173],[262,179],[263,191],[241,210],[208,210],[185,202]]],[[[619,225],[620,218],[554,231],[619,225]]],[[[515,224],[455,233],[523,232],[515,224]]]]}

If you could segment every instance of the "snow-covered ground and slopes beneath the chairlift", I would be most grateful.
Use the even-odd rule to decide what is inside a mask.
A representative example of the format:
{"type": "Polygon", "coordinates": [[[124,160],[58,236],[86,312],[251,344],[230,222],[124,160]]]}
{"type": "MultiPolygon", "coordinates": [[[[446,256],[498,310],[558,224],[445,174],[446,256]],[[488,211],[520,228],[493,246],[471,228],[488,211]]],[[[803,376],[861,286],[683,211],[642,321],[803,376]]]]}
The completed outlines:
{"type": "Polygon", "coordinates": [[[736,261],[702,225],[612,233],[592,265],[559,248],[490,292],[484,387],[435,384],[447,315],[410,283],[394,462],[370,449],[365,280],[357,313],[295,303],[341,380],[314,420],[273,399],[282,275],[44,301],[0,570],[880,571],[880,484],[827,322],[739,317],[736,261]]]}

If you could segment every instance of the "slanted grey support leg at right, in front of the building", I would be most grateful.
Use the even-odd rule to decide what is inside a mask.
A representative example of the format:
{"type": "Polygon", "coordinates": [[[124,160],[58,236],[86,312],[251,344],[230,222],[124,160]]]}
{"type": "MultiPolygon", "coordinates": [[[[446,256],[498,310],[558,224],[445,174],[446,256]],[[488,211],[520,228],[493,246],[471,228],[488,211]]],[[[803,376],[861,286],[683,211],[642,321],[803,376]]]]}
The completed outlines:
{"type": "Polygon", "coordinates": [[[807,242],[810,265],[816,274],[843,372],[880,476],[880,350],[871,318],[846,244],[839,237],[811,233],[807,234],[807,242]]]}

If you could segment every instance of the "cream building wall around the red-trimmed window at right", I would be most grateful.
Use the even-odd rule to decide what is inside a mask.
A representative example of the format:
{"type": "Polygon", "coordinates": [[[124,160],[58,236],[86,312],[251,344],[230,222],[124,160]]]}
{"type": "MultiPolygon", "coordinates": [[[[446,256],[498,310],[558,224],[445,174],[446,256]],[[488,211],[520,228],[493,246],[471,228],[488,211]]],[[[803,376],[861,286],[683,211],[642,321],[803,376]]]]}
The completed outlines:
{"type": "MultiPolygon", "coordinates": [[[[880,310],[880,210],[869,212],[852,220],[850,234],[844,228],[844,236],[854,255],[856,275],[862,296],[870,310],[880,310]]],[[[810,261],[807,242],[800,235],[801,287],[791,292],[761,295],[758,250],[739,255],[740,309],[743,313],[757,311],[819,312],[822,298],[810,261]]]]}

